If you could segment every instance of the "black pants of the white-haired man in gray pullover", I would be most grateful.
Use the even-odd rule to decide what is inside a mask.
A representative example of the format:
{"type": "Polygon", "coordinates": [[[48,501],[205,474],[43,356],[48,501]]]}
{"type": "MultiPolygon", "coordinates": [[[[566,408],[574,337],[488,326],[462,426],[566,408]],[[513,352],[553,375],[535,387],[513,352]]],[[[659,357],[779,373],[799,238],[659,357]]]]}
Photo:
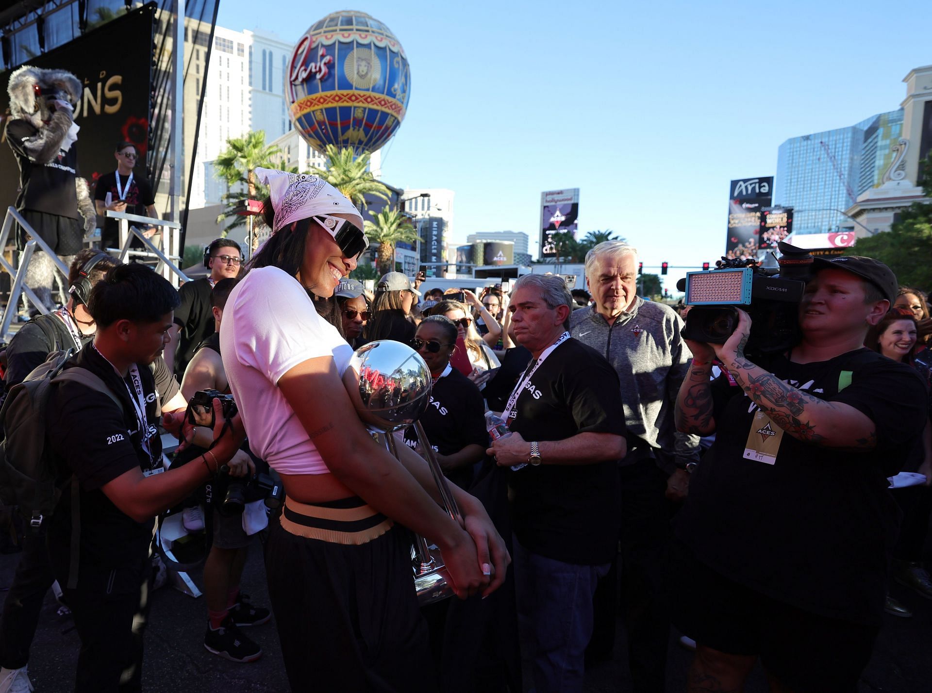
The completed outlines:
{"type": "Polygon", "coordinates": [[[665,557],[671,538],[666,475],[652,459],[619,469],[621,578],[628,665],[635,693],[663,693],[670,615],[665,557]]]}

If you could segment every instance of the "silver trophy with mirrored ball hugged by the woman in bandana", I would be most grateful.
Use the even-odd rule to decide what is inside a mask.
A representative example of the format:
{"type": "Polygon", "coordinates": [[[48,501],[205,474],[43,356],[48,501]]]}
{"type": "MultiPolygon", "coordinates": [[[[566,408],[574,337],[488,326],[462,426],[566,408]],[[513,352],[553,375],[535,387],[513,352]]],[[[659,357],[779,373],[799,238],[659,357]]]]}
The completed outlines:
{"type": "MultiPolygon", "coordinates": [[[[462,525],[456,499],[418,419],[431,402],[431,370],[417,351],[401,342],[381,340],[361,346],[349,360],[347,373],[358,380],[360,418],[378,442],[398,457],[394,431],[414,426],[427,465],[437,484],[444,509],[462,525]]],[[[415,535],[411,567],[420,605],[438,602],[453,593],[443,557],[424,537],[415,535]]]]}

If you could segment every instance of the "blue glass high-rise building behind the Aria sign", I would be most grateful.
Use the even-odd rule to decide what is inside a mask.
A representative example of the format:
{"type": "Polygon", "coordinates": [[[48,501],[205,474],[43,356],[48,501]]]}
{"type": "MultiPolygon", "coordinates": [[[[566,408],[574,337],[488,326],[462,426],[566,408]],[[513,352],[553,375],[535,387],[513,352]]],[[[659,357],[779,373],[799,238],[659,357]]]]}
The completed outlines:
{"type": "Polygon", "coordinates": [[[871,115],[847,128],[793,137],[780,145],[774,205],[794,208],[794,234],[844,227],[844,210],[881,183],[902,117],[901,111],[871,115]]]}

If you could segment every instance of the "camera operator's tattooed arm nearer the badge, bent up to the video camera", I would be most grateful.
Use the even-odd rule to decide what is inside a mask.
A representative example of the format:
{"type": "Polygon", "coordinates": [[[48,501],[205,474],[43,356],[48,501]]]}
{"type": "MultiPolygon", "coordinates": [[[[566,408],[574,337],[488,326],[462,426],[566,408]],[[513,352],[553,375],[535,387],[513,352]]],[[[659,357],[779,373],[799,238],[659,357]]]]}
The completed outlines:
{"type": "Polygon", "coordinates": [[[877,444],[873,421],[850,404],[820,400],[784,383],[745,357],[751,320],[739,310],[738,326],[716,354],[734,382],[789,435],[823,447],[871,450],[877,444]]]}

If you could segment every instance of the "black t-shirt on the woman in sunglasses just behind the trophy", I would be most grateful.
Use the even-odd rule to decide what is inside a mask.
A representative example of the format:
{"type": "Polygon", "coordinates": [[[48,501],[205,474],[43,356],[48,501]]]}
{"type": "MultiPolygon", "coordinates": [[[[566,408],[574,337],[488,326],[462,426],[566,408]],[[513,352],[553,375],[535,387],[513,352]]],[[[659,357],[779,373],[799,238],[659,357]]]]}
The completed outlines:
{"type": "MultiPolygon", "coordinates": [[[[488,443],[482,393],[472,380],[455,368],[433,384],[431,403],[421,414],[420,423],[433,451],[441,455],[459,453],[472,444],[485,448],[488,443]]],[[[404,443],[411,448],[418,444],[418,433],[413,426],[404,429],[404,443]]],[[[446,476],[465,488],[473,478],[473,470],[455,469],[446,476]]]]}

